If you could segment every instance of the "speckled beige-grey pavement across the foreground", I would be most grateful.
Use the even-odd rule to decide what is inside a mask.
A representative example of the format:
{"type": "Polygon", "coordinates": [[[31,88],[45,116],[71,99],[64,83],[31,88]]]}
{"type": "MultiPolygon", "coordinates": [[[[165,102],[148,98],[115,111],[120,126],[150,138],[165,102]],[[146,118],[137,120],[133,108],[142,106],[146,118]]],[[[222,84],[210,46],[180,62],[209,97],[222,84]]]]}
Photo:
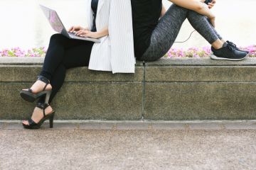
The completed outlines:
{"type": "Polygon", "coordinates": [[[0,130],[0,169],[255,169],[255,130],[0,130]]]}

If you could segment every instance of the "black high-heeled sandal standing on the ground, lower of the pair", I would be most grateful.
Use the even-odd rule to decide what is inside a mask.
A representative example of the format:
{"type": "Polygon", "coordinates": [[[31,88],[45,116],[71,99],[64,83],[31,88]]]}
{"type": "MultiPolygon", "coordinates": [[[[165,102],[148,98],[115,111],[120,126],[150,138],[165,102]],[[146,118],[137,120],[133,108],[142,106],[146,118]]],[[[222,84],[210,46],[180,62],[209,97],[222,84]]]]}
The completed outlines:
{"type": "Polygon", "coordinates": [[[53,118],[54,118],[54,113],[55,111],[52,111],[51,113],[46,115],[46,108],[50,106],[48,103],[38,103],[36,105],[36,107],[43,109],[43,118],[38,122],[35,123],[31,118],[28,119],[28,124],[23,124],[23,127],[26,129],[39,129],[41,127],[41,125],[43,124],[43,122],[47,119],[50,120],[50,128],[53,128],[53,118]]]}

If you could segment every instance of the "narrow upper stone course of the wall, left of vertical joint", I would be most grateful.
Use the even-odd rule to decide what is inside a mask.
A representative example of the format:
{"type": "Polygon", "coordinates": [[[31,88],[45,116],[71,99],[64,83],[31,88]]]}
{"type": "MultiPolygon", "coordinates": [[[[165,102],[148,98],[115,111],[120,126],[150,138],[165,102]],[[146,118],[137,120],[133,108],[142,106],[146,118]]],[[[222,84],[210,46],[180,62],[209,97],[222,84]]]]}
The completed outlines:
{"type": "MultiPolygon", "coordinates": [[[[33,82],[41,72],[42,66],[0,66],[0,82],[33,82]]],[[[87,67],[68,69],[65,81],[143,81],[143,67],[136,68],[136,74],[112,74],[112,72],[96,72],[87,67]]]]}

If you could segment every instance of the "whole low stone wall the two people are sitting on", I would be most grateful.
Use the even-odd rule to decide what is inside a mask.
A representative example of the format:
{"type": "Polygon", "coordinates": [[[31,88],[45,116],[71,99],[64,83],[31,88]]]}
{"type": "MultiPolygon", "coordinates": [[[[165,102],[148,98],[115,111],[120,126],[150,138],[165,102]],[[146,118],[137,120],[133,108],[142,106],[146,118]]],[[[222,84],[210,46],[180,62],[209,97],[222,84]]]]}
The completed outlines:
{"type": "MultiPolygon", "coordinates": [[[[0,120],[29,117],[34,104],[18,91],[31,86],[42,57],[0,57],[0,120]]],[[[137,62],[136,74],[69,69],[52,105],[57,119],[256,119],[256,59],[240,62],[161,59],[137,62]]]]}

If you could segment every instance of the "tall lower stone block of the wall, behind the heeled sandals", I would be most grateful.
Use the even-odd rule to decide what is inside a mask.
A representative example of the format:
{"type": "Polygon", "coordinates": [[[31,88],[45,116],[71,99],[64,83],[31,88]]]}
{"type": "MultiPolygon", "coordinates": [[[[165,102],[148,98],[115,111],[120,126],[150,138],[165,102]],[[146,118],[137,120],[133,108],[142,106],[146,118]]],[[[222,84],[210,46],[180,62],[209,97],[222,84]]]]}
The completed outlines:
{"type": "MultiPolygon", "coordinates": [[[[23,101],[28,83],[0,83],[0,120],[31,116],[34,103],[23,101]]],[[[139,120],[142,83],[66,83],[51,103],[56,119],[139,120]]]]}

